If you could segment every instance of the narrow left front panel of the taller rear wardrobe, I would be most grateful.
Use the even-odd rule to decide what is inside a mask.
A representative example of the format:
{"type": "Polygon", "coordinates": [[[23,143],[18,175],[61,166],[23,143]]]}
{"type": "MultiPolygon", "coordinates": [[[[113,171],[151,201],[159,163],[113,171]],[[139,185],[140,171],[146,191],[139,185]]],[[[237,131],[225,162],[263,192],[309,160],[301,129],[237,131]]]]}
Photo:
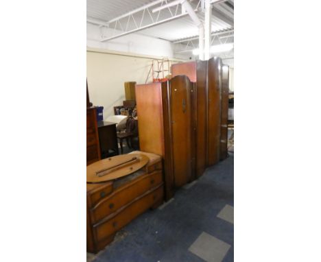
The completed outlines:
{"type": "Polygon", "coordinates": [[[206,167],[206,91],[207,91],[207,61],[197,62],[197,124],[196,124],[196,176],[202,176],[206,167]]]}

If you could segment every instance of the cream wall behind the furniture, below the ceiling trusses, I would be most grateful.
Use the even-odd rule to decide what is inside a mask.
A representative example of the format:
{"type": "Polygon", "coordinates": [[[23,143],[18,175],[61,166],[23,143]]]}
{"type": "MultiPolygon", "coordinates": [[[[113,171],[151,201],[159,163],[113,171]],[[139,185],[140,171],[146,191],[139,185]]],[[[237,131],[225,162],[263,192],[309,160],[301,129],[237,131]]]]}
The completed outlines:
{"type": "MultiPolygon", "coordinates": [[[[154,57],[87,48],[88,92],[94,106],[104,106],[104,118],[125,100],[124,82],[145,84],[154,57]]],[[[174,60],[174,63],[178,60],[174,60]]],[[[149,82],[152,80],[150,78],[149,82]]]]}

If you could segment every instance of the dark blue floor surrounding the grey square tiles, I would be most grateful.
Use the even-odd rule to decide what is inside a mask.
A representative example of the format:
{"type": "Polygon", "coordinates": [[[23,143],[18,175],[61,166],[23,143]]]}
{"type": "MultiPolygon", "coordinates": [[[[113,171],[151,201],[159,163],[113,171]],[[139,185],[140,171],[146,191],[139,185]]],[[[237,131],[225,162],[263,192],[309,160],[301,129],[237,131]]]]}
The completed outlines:
{"type": "Polygon", "coordinates": [[[147,211],[117,234],[95,262],[200,261],[189,247],[202,232],[231,245],[222,262],[233,261],[234,226],[217,217],[234,206],[234,156],[213,167],[189,189],[180,189],[162,210],[147,211]]]}

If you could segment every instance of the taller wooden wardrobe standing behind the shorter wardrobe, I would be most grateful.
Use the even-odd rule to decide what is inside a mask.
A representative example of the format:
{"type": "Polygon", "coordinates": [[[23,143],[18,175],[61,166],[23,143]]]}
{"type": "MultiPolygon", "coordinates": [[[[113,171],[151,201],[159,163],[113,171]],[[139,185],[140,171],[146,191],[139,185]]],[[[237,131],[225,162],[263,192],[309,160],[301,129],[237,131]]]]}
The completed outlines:
{"type": "Polygon", "coordinates": [[[197,174],[200,176],[206,166],[227,156],[228,66],[223,65],[220,58],[211,58],[173,64],[171,73],[187,75],[196,85],[198,134],[205,133],[204,139],[197,136],[197,156],[205,158],[198,159],[197,174]]]}

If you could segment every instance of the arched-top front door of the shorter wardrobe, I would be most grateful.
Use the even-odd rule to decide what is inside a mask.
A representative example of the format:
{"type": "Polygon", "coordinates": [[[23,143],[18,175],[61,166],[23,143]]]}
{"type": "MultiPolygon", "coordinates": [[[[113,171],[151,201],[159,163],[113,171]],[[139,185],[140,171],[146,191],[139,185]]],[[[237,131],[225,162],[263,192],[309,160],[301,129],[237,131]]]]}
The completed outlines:
{"type": "Polygon", "coordinates": [[[193,138],[191,90],[193,84],[185,75],[169,81],[171,150],[174,163],[175,187],[182,187],[192,178],[193,138]]]}

